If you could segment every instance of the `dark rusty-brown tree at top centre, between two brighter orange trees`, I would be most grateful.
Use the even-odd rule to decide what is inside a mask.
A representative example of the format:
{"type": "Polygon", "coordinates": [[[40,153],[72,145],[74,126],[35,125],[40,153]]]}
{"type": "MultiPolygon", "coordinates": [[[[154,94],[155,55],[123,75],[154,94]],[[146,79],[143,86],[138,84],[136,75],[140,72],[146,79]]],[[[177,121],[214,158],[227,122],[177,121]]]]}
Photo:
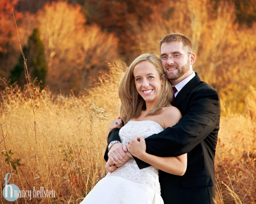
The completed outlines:
{"type": "Polygon", "coordinates": [[[127,1],[87,1],[90,22],[97,23],[101,28],[113,32],[119,39],[118,51],[123,60],[132,61],[141,54],[138,47],[138,35],[142,23],[154,21],[155,10],[161,13],[166,0],[127,0],[127,1]],[[91,13],[90,13],[91,12],[91,13]]]}

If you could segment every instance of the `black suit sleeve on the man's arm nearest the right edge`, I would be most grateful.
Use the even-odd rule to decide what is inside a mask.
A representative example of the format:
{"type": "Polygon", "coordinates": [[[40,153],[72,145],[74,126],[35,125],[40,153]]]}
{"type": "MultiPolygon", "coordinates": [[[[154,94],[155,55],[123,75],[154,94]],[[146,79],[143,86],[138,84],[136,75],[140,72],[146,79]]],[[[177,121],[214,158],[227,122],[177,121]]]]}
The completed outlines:
{"type": "MultiPolygon", "coordinates": [[[[203,88],[193,91],[178,108],[182,114],[179,123],[146,138],[148,154],[160,157],[185,154],[216,129],[220,116],[220,105],[219,95],[214,89],[203,88]],[[182,113],[182,110],[185,114],[182,113]]],[[[149,166],[138,158],[134,159],[139,168],[149,166]]]]}

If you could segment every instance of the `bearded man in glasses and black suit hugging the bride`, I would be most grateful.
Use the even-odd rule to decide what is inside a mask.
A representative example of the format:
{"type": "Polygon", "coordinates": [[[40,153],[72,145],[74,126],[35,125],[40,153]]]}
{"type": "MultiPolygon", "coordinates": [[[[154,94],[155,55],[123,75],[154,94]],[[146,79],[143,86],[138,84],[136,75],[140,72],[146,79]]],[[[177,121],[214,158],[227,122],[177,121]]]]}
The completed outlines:
{"type": "MultiPolygon", "coordinates": [[[[213,204],[214,157],[220,122],[219,95],[193,71],[196,56],[186,36],[173,33],[165,36],[159,45],[159,59],[167,78],[177,89],[173,106],[180,110],[182,118],[172,128],[148,137],[146,151],[161,157],[188,153],[185,175],[175,176],[159,171],[161,196],[165,204],[213,204]]],[[[122,144],[119,143],[118,131],[114,129],[110,132],[109,148],[105,154],[105,159],[109,157],[113,164],[127,160],[122,144]]],[[[139,168],[148,166],[138,158],[134,159],[139,168]]]]}

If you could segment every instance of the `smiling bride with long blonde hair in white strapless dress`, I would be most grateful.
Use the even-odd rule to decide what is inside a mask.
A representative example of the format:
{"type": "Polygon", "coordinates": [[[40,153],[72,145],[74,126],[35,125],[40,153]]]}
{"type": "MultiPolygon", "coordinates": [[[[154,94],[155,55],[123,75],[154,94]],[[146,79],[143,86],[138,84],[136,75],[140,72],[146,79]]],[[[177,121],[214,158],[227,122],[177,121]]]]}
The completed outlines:
{"type": "MultiPolygon", "coordinates": [[[[145,138],[178,123],[179,110],[170,105],[172,88],[161,62],[155,55],[137,57],[119,86],[121,116],[124,126],[119,137],[130,157],[123,166],[108,160],[108,174],[81,202],[85,203],[159,203],[163,204],[158,169],[182,176],[187,168],[187,154],[178,157],[157,157],[146,153],[145,138]],[[151,166],[139,169],[132,155],[151,166]]],[[[116,128],[111,122],[109,131],[116,128]]]]}

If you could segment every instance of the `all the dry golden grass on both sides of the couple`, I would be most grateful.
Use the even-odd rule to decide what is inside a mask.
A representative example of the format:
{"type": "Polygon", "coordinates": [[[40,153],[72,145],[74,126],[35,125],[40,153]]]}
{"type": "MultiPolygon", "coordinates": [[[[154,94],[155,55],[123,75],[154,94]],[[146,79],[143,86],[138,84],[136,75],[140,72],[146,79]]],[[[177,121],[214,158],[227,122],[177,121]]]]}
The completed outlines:
{"type": "MultiPolygon", "coordinates": [[[[5,175],[12,172],[10,183],[20,190],[44,187],[55,191],[55,198],[19,198],[17,203],[79,203],[105,176],[103,135],[110,120],[118,116],[118,83],[124,73],[121,63],[109,67],[109,74],[102,73],[95,87],[79,96],[53,97],[38,87],[21,91],[5,86],[0,150],[4,154],[11,150],[9,156],[21,159],[21,165],[14,164],[15,174],[5,162],[7,157],[0,154],[1,192],[5,175]]],[[[255,100],[248,100],[249,108],[255,108],[255,100]]],[[[256,203],[256,124],[253,112],[248,113],[221,118],[215,159],[218,204],[256,203]]],[[[2,193],[0,200],[9,203],[2,193]]]]}

